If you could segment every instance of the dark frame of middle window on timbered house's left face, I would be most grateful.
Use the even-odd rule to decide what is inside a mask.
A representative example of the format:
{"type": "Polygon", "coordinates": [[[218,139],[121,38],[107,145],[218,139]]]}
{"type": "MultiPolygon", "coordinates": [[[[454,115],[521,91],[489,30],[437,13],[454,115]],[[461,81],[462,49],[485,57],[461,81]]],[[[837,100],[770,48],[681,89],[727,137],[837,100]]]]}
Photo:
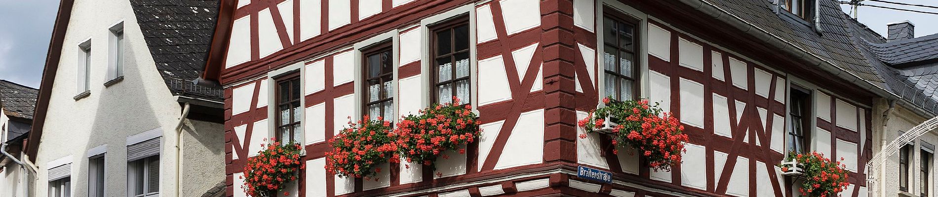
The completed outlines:
{"type": "MultiPolygon", "coordinates": [[[[379,42],[376,42],[376,44],[373,44],[373,45],[371,45],[371,46],[368,46],[368,47],[366,47],[366,48],[363,48],[363,49],[359,49],[359,50],[358,50],[358,51],[360,52],[360,58],[359,58],[359,61],[360,61],[360,62],[359,62],[359,66],[358,66],[358,67],[359,67],[359,69],[360,69],[360,71],[361,71],[361,72],[359,73],[359,74],[360,74],[360,77],[361,77],[361,85],[360,85],[359,89],[360,89],[361,92],[362,92],[362,95],[361,95],[361,97],[360,97],[361,99],[359,100],[359,105],[358,105],[358,106],[361,107],[361,117],[364,117],[365,115],[370,115],[370,111],[369,111],[369,107],[368,107],[368,106],[375,105],[375,104],[382,104],[382,103],[385,103],[385,102],[388,102],[388,101],[391,102],[391,106],[390,106],[390,109],[389,109],[389,110],[391,110],[392,113],[394,113],[395,116],[397,115],[397,111],[396,111],[397,109],[396,109],[396,107],[395,107],[397,101],[395,101],[395,95],[397,94],[397,91],[399,91],[399,90],[398,90],[398,87],[397,87],[397,83],[398,83],[398,81],[397,81],[397,80],[398,80],[398,78],[397,78],[397,72],[395,71],[395,70],[397,69],[397,68],[396,68],[397,65],[396,65],[396,63],[395,63],[395,59],[396,59],[397,57],[395,56],[396,54],[395,54],[394,50],[395,50],[395,49],[394,49],[394,41],[393,41],[392,39],[386,39],[386,40],[383,40],[383,41],[379,41],[379,42]],[[384,68],[382,67],[382,68],[379,68],[379,75],[378,75],[377,77],[369,77],[369,67],[371,66],[371,64],[369,64],[369,62],[368,62],[368,57],[371,56],[371,55],[373,55],[373,54],[380,54],[381,52],[384,52],[384,51],[390,51],[390,54],[388,55],[388,58],[387,58],[387,60],[386,60],[386,61],[388,61],[389,63],[391,63],[390,70],[386,71],[386,73],[385,73],[385,70],[384,70],[384,68]],[[378,79],[378,81],[379,81],[381,84],[384,84],[384,83],[387,82],[387,81],[385,81],[384,79],[382,79],[382,77],[390,77],[390,78],[391,78],[390,81],[393,82],[393,83],[391,84],[391,86],[393,87],[393,92],[389,92],[389,93],[386,92],[386,94],[388,95],[386,98],[380,98],[380,96],[379,96],[379,98],[378,98],[377,101],[371,102],[371,101],[369,101],[370,96],[371,96],[371,92],[369,91],[369,85],[368,85],[369,83],[368,83],[368,81],[369,81],[369,80],[372,80],[372,79],[378,79]]],[[[379,91],[379,94],[381,94],[381,92],[384,92],[384,91],[385,91],[385,89],[381,89],[381,90],[379,91]]],[[[386,106],[382,106],[382,107],[381,107],[381,114],[382,114],[382,117],[384,117],[384,114],[386,114],[386,113],[385,113],[385,112],[386,112],[386,111],[385,111],[385,107],[386,107],[386,106]]],[[[370,119],[373,119],[371,116],[369,116],[369,118],[370,118],[370,119]]],[[[392,121],[392,122],[393,122],[394,120],[397,120],[397,118],[396,118],[396,117],[392,117],[392,118],[386,118],[385,120],[388,120],[388,121],[392,121]]]]}

